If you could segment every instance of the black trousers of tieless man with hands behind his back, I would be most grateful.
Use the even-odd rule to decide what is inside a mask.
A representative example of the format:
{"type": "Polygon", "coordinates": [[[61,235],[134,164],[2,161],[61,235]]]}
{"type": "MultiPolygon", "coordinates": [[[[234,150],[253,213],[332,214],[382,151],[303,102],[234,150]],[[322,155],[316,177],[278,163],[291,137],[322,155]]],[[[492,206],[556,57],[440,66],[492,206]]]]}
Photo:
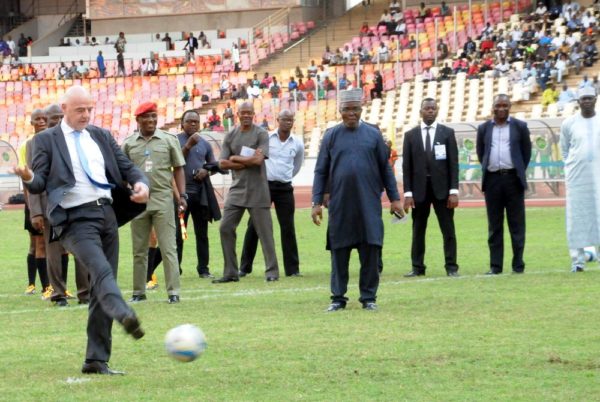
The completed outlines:
{"type": "Polygon", "coordinates": [[[488,216],[490,269],[502,272],[504,261],[504,211],[512,242],[512,269],[523,272],[525,262],[525,191],[514,170],[505,173],[487,172],[485,205],[488,216]]]}

